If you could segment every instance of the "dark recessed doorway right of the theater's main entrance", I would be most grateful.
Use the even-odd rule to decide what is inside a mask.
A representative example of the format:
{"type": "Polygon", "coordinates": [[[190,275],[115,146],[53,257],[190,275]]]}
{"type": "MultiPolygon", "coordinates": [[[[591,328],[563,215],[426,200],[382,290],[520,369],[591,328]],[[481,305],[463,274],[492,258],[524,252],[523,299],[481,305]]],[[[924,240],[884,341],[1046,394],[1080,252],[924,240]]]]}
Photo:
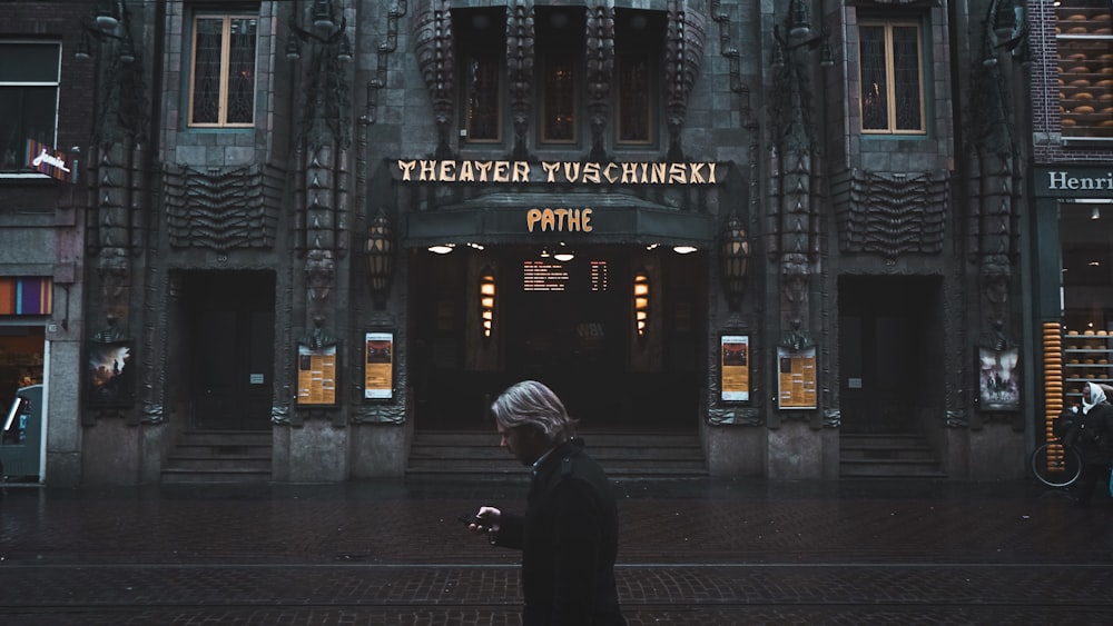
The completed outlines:
{"type": "Polygon", "coordinates": [[[942,279],[839,279],[843,431],[910,434],[943,394],[942,279]]]}

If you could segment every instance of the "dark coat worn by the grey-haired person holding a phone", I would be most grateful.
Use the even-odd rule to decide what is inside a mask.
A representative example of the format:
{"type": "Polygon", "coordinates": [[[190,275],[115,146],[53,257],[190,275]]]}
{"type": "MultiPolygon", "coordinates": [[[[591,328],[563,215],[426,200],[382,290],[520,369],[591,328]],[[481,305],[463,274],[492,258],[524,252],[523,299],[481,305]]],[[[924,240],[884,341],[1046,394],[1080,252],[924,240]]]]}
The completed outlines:
{"type": "Polygon", "coordinates": [[[494,544],[522,550],[524,626],[621,626],[614,583],[619,521],[602,468],[579,440],[536,470],[524,516],[503,513],[494,544]]]}

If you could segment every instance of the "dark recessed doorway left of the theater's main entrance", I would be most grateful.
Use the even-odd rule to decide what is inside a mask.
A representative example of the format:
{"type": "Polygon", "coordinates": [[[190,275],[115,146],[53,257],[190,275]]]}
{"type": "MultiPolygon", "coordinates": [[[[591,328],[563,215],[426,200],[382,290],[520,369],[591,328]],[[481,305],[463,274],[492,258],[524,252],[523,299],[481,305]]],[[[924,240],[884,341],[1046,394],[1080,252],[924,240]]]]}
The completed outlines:
{"type": "Polygon", "coordinates": [[[184,277],[193,424],[265,430],[274,395],[275,276],[198,271],[184,277]]]}

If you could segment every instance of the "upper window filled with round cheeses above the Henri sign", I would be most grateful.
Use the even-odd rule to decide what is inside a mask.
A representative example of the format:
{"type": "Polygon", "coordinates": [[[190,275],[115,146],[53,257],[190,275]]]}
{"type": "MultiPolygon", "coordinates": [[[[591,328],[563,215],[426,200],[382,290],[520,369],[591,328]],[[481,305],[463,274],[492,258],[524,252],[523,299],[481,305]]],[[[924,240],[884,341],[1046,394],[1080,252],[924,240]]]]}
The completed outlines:
{"type": "Polygon", "coordinates": [[[1113,137],[1113,30],[1109,0],[1055,8],[1064,137],[1113,137]]]}

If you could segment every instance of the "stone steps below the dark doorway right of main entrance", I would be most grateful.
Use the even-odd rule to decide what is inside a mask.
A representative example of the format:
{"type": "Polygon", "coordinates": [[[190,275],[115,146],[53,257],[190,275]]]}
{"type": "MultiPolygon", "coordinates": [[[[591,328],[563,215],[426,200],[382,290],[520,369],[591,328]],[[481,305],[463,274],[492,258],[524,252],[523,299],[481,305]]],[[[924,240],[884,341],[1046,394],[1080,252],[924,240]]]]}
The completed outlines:
{"type": "Polygon", "coordinates": [[[839,436],[840,478],[946,478],[920,435],[839,436]]]}

